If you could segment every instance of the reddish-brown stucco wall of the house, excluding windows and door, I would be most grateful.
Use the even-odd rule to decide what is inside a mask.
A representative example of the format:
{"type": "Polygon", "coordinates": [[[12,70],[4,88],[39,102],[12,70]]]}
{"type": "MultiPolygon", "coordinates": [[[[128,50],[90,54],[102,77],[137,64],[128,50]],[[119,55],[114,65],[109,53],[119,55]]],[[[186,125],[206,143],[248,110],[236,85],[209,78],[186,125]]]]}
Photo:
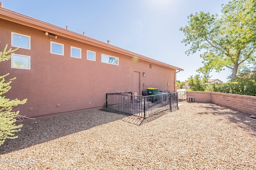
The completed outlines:
{"type": "Polygon", "coordinates": [[[26,104],[18,106],[21,115],[35,117],[104,106],[106,93],[133,91],[134,71],[140,72],[140,91],[148,87],[174,91],[174,69],[140,59],[134,61],[131,56],[63,37],[52,40],[64,44],[64,56],[55,55],[50,53],[50,40],[44,35],[45,31],[2,19],[0,28],[1,51],[6,44],[8,49],[11,47],[11,32],[31,36],[31,49],[18,49],[15,52],[31,57],[30,70],[11,68],[10,60],[0,63],[0,75],[9,72],[8,78],[16,77],[6,97],[28,99],[26,104]],[[70,57],[70,46],[82,49],[82,59],[70,57]],[[96,61],[87,60],[87,50],[96,52],[96,61]],[[102,53],[118,57],[119,65],[101,63],[102,53]],[[142,72],[146,76],[142,76],[142,72]],[[170,86],[167,86],[168,83],[170,86]]]}

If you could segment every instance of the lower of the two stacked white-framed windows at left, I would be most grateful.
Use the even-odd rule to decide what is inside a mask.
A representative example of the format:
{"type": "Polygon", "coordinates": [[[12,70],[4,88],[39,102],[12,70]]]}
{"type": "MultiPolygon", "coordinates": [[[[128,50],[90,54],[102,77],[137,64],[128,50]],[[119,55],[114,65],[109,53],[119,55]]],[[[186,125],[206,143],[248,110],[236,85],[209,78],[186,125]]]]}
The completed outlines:
{"type": "Polygon", "coordinates": [[[11,63],[11,68],[30,70],[30,56],[13,54],[11,63]]]}

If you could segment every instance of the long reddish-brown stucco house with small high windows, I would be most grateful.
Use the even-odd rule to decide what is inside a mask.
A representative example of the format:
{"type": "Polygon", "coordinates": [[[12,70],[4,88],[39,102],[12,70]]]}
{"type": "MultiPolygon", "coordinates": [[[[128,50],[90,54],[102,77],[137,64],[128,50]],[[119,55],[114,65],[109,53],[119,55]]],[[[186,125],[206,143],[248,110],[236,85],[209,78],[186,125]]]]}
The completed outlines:
{"type": "Polygon", "coordinates": [[[6,98],[27,98],[18,108],[28,117],[102,108],[106,93],[176,91],[183,70],[1,6],[0,29],[0,51],[20,47],[0,63],[0,75],[16,77],[6,98]]]}

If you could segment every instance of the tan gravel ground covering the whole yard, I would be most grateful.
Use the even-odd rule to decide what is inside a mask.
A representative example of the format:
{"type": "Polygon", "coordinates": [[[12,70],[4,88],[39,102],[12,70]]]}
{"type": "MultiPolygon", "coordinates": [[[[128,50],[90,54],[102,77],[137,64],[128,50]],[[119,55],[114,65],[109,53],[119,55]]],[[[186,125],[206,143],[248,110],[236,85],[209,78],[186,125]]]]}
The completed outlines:
{"type": "Polygon", "coordinates": [[[179,104],[147,119],[94,110],[25,122],[0,146],[0,169],[256,169],[256,119],[179,104]]]}

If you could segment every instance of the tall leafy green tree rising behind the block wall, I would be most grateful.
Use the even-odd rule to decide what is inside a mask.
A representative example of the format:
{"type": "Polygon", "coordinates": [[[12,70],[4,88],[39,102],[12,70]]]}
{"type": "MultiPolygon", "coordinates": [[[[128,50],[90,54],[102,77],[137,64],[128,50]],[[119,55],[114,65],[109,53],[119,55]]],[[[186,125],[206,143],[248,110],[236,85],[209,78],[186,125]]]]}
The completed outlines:
{"type": "Polygon", "coordinates": [[[256,63],[256,0],[231,0],[221,12],[188,16],[188,25],[180,28],[186,36],[182,43],[190,45],[187,55],[204,51],[200,55],[204,66],[198,72],[229,68],[235,82],[240,68],[256,63]]]}

